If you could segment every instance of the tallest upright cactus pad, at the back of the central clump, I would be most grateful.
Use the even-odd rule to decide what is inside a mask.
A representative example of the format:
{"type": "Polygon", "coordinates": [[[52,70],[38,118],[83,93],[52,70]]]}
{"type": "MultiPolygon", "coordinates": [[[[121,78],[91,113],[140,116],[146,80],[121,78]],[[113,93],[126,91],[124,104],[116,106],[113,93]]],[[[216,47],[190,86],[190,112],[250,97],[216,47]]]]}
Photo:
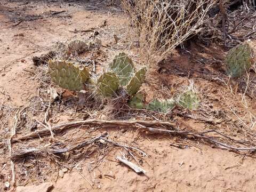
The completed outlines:
{"type": "Polygon", "coordinates": [[[116,55],[113,62],[110,63],[109,68],[117,74],[122,86],[129,83],[131,76],[134,73],[133,62],[125,53],[116,55]]]}

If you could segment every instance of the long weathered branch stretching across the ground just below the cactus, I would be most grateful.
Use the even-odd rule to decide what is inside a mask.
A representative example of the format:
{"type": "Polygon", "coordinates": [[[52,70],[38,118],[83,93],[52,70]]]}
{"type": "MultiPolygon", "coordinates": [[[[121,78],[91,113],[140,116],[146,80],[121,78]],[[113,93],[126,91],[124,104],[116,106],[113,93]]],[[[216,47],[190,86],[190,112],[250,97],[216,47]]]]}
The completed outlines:
{"type": "MultiPolygon", "coordinates": [[[[52,127],[52,131],[53,132],[60,132],[63,131],[65,129],[68,128],[76,128],[76,127],[82,127],[82,126],[88,126],[88,125],[98,125],[98,126],[105,126],[105,127],[118,127],[118,128],[124,128],[124,129],[135,129],[137,128],[138,130],[145,130],[147,132],[150,133],[157,133],[157,134],[167,134],[167,135],[171,135],[171,136],[179,136],[181,138],[188,138],[191,140],[196,140],[196,139],[200,139],[204,142],[210,143],[211,145],[214,145],[215,147],[219,147],[222,149],[227,149],[227,150],[235,150],[235,151],[255,151],[256,147],[247,147],[245,145],[245,143],[242,143],[241,141],[237,142],[236,140],[232,140],[234,143],[240,143],[243,144],[246,147],[236,147],[236,146],[232,146],[229,145],[228,143],[223,143],[220,142],[219,140],[216,140],[216,137],[211,137],[211,136],[206,136],[206,133],[210,133],[210,132],[214,132],[215,134],[218,134],[222,137],[225,137],[224,134],[219,133],[217,131],[206,131],[203,133],[196,133],[196,132],[191,132],[191,131],[179,131],[177,129],[174,128],[174,124],[170,123],[170,122],[161,122],[161,121],[151,121],[151,122],[147,122],[147,121],[105,121],[105,120],[99,120],[99,119],[89,119],[86,121],[78,121],[78,122],[70,122],[70,123],[65,123],[65,124],[61,124],[61,125],[56,125],[52,127]],[[151,127],[154,126],[154,127],[151,127]],[[156,127],[156,128],[155,128],[156,127]],[[159,127],[163,127],[163,129],[159,128],[159,127]],[[172,129],[172,130],[170,130],[172,129]]],[[[19,138],[15,138],[12,140],[12,142],[17,142],[17,141],[21,141],[21,140],[28,140],[30,138],[37,138],[37,137],[42,137],[43,135],[50,135],[50,131],[49,129],[43,129],[40,131],[36,131],[34,133],[30,133],[27,135],[24,135],[22,137],[19,138]]],[[[230,137],[225,137],[225,138],[229,138],[230,137]]],[[[87,142],[87,141],[85,141],[87,142]]],[[[2,143],[4,144],[4,143],[2,143]]],[[[78,146],[81,144],[78,144],[78,146]]],[[[114,143],[115,145],[115,143],[114,143]]],[[[124,146],[122,146],[124,147],[124,146]]],[[[52,151],[52,153],[65,153],[67,150],[71,150],[71,149],[59,149],[59,150],[55,150],[52,151]]],[[[29,153],[31,153],[31,151],[29,151],[29,153]]]]}

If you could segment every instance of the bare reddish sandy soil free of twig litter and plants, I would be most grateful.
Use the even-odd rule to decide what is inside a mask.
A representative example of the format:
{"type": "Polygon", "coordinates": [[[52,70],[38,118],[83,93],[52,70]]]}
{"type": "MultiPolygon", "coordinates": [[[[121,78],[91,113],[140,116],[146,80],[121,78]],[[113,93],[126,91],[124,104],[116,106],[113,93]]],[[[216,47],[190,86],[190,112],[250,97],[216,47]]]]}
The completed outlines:
{"type": "MultiPolygon", "coordinates": [[[[66,41],[74,36],[89,36],[90,33],[74,33],[73,31],[97,28],[105,21],[107,21],[106,26],[99,29],[101,31],[99,38],[105,48],[116,46],[113,35],[122,39],[124,37],[122,31],[126,28],[126,18],[116,8],[111,8],[110,12],[101,7],[94,10],[92,8],[94,5],[87,1],[84,3],[76,3],[76,1],[70,3],[27,2],[27,4],[26,1],[4,0],[0,2],[0,104],[11,108],[26,106],[32,98],[38,95],[40,83],[35,80],[36,77],[33,75],[36,71],[31,60],[33,56],[39,56],[51,50],[57,41],[66,41]],[[52,15],[52,11],[65,12],[52,15]],[[43,18],[37,18],[37,15],[43,15],[43,18]],[[17,18],[21,20],[17,20],[17,18]],[[22,22],[19,23],[20,21],[22,22]]],[[[122,41],[125,42],[125,39],[121,40],[115,51],[122,50],[122,41]]],[[[191,47],[196,46],[191,45],[191,47]]],[[[193,49],[195,48],[192,48],[192,51],[193,49]]],[[[229,108],[233,107],[246,125],[250,125],[250,114],[242,108],[240,102],[241,94],[231,94],[229,87],[221,86],[214,81],[207,81],[203,78],[202,73],[198,73],[202,70],[205,73],[214,72],[216,67],[217,71],[222,70],[221,66],[216,66],[218,63],[216,65],[210,65],[210,63],[213,62],[212,57],[223,60],[225,54],[215,53],[214,47],[204,49],[203,55],[201,54],[205,59],[204,62],[197,60],[198,52],[202,51],[198,48],[193,51],[195,53],[193,55],[177,52],[172,60],[159,65],[158,72],[150,74],[146,82],[147,99],[164,98],[166,95],[163,91],[161,92],[161,86],[165,86],[169,90],[178,90],[181,85],[188,84],[189,79],[193,78],[205,98],[203,101],[209,106],[211,104],[215,111],[222,111],[229,117],[228,121],[214,126],[237,139],[243,139],[243,136],[247,134],[249,136],[246,136],[246,139],[255,141],[252,136],[255,130],[251,130],[252,133],[246,130],[229,108]]],[[[215,49],[215,51],[217,50],[215,49]]],[[[107,55],[103,62],[108,61],[109,58],[111,55],[107,55]]],[[[249,109],[254,110],[255,113],[255,102],[249,97],[246,97],[246,100],[249,109]]],[[[58,122],[60,123],[70,118],[74,119],[74,116],[62,114],[57,118],[60,119],[58,122]]],[[[205,122],[184,117],[175,117],[174,120],[179,122],[181,129],[202,131],[209,126],[205,122]]],[[[6,134],[10,131],[12,121],[10,120],[0,128],[2,133],[6,134]]],[[[201,141],[186,141],[176,137],[148,135],[136,131],[99,129],[94,135],[105,131],[109,132],[110,138],[113,140],[135,143],[140,149],[146,151],[147,157],[136,157],[140,166],[147,171],[146,175],[138,175],[118,163],[115,157],[120,155],[120,151],[123,150],[122,148],[111,148],[111,150],[107,150],[106,156],[104,153],[92,154],[71,163],[47,162],[47,158],[38,160],[38,164],[47,162],[48,169],[38,168],[37,171],[42,174],[38,173],[37,178],[30,178],[26,170],[21,169],[21,164],[17,164],[15,167],[17,169],[16,185],[27,187],[39,185],[42,182],[52,182],[54,188],[51,191],[59,192],[256,190],[256,181],[254,180],[256,168],[253,157],[213,148],[201,141]],[[173,146],[177,143],[181,143],[183,149],[173,146]],[[101,157],[104,158],[100,163],[93,162],[101,157]],[[69,164],[76,166],[70,168],[69,164]],[[59,171],[63,167],[68,167],[68,171],[61,178],[59,171]]],[[[22,134],[21,132],[22,130],[19,131],[19,134],[22,134]]],[[[74,134],[87,134],[87,130],[78,129],[74,134]]],[[[44,145],[44,141],[39,141],[37,145],[44,145]]],[[[15,190],[14,188],[4,189],[4,183],[11,182],[11,171],[7,149],[1,150],[2,155],[3,157],[0,157],[0,191],[15,190]]],[[[30,159],[26,161],[30,161],[30,159]]],[[[32,174],[30,176],[32,177],[32,174]]],[[[26,187],[24,191],[27,191],[26,187]]]]}

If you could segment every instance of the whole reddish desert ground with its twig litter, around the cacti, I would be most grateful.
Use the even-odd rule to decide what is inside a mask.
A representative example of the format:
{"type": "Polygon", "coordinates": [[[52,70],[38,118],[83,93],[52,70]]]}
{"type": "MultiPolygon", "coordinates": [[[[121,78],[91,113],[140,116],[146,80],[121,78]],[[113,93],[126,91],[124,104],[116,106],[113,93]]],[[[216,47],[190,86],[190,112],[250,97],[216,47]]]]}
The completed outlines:
{"type": "MultiPolygon", "coordinates": [[[[167,114],[122,110],[91,100],[81,104],[77,92],[51,81],[47,65],[33,62],[57,42],[98,38],[99,50],[81,54],[93,60],[95,74],[123,51],[139,68],[145,63],[139,62],[130,36],[129,18],[113,1],[0,2],[0,191],[256,191],[255,149],[236,150],[195,135],[154,133],[140,129],[143,125],[120,123],[164,121],[201,136],[215,130],[207,135],[228,146],[254,148],[255,70],[249,71],[249,86],[226,77],[229,48],[194,39],[187,51],[178,47],[154,67],[147,66],[141,87],[146,102],[170,98],[191,81],[200,95],[197,110],[174,108],[167,114]],[[65,127],[52,135],[38,133],[90,119],[102,122],[65,127]],[[93,141],[97,137],[108,141],[93,141]],[[70,146],[76,147],[53,153],[70,146]],[[136,173],[118,156],[146,173],[136,173]]],[[[256,40],[250,45],[255,47],[256,40]]]]}

